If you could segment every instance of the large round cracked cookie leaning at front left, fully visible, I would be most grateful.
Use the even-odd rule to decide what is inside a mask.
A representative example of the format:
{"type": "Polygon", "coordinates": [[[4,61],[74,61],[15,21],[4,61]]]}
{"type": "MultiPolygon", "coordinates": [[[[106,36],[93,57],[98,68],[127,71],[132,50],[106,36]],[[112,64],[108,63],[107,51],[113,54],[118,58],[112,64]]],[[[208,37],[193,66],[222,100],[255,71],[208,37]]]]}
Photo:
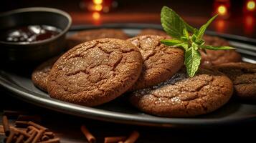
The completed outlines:
{"type": "Polygon", "coordinates": [[[136,82],[142,57],[131,42],[97,39],[60,56],[49,73],[50,97],[85,106],[110,102],[136,82]]]}

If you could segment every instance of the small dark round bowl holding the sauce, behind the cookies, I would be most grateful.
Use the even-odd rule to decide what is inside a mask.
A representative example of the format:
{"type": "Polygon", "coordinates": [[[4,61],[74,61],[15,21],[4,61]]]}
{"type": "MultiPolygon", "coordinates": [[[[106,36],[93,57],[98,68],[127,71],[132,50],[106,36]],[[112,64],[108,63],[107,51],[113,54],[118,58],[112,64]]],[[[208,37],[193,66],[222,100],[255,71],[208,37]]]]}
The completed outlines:
{"type": "Polygon", "coordinates": [[[50,25],[61,29],[60,34],[32,43],[0,41],[0,59],[4,63],[37,63],[60,54],[65,49],[65,36],[72,20],[59,9],[32,7],[0,14],[0,31],[16,26],[50,25]]]}

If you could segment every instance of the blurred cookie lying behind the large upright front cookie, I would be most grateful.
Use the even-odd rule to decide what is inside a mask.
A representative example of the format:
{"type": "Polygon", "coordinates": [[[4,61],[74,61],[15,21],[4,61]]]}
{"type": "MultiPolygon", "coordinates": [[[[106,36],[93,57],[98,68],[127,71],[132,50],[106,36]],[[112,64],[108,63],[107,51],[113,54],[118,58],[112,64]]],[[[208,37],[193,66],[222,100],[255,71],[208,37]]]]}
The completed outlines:
{"type": "Polygon", "coordinates": [[[121,29],[93,29],[79,31],[67,38],[67,46],[68,49],[71,49],[73,46],[85,41],[103,38],[128,39],[128,35],[121,29]]]}

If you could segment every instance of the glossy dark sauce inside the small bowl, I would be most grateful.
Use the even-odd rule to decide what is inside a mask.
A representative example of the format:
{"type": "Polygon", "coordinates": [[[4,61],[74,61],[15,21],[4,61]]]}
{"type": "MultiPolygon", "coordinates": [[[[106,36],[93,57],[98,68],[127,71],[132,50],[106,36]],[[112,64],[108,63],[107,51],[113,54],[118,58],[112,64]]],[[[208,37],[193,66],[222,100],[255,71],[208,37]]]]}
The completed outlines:
{"type": "Polygon", "coordinates": [[[32,43],[52,38],[60,34],[61,29],[49,25],[18,26],[0,31],[0,41],[32,43]]]}

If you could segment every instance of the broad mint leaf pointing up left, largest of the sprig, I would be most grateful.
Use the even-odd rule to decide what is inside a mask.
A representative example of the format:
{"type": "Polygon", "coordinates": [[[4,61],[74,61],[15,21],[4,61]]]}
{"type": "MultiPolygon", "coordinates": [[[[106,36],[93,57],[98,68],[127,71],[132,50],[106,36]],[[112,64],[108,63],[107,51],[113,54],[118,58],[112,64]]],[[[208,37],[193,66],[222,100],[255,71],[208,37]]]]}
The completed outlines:
{"type": "Polygon", "coordinates": [[[181,38],[184,29],[187,29],[191,32],[196,32],[196,29],[194,29],[189,24],[186,24],[186,22],[181,19],[181,16],[176,14],[175,11],[167,6],[163,6],[161,10],[161,24],[164,31],[176,39],[181,38]]]}

